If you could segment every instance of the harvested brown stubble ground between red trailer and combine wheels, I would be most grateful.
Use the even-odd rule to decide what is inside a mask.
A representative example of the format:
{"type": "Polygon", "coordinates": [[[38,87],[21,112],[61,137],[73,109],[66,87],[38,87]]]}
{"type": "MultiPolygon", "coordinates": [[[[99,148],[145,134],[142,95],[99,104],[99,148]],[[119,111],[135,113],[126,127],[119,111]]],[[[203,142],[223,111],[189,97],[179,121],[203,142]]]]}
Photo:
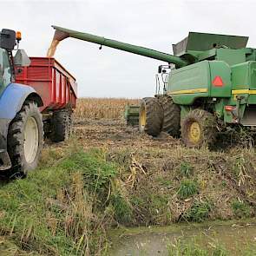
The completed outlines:
{"type": "Polygon", "coordinates": [[[157,138],[141,135],[138,127],[127,126],[125,121],[75,121],[75,137],[86,148],[174,148],[179,140],[162,133],[157,138]]]}

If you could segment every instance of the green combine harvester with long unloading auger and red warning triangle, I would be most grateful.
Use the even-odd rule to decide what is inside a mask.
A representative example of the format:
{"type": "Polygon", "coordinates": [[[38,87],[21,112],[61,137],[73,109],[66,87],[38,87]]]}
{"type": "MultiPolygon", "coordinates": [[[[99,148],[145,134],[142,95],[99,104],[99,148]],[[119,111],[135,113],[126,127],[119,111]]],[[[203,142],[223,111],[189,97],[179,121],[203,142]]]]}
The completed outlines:
{"type": "Polygon", "coordinates": [[[141,100],[139,127],[148,135],[161,131],[181,136],[188,147],[213,143],[227,126],[256,126],[256,49],[246,48],[247,36],[190,32],[173,44],[174,56],[121,43],[102,36],[53,26],[50,51],[67,37],[98,43],[163,62],[169,68],[161,93],[141,100]]]}

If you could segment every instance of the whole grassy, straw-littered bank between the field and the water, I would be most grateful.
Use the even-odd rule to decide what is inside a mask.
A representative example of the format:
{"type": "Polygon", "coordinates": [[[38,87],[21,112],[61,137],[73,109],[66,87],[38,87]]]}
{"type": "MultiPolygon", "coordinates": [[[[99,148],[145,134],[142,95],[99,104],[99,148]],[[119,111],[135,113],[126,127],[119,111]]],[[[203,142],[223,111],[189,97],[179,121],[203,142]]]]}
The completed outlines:
{"type": "Polygon", "coordinates": [[[44,150],[36,172],[1,185],[6,255],[108,255],[109,227],[255,215],[253,149],[84,151],[73,144],[44,150]]]}

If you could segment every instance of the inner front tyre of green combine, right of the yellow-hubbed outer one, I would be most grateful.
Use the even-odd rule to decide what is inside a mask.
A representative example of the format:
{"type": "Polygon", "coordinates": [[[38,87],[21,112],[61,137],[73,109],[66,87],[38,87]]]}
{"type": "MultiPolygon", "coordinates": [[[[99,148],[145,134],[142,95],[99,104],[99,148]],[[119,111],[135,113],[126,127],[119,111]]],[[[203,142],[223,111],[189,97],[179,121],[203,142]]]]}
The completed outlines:
{"type": "Polygon", "coordinates": [[[159,97],[159,101],[163,108],[162,131],[179,137],[181,135],[181,108],[167,95],[159,97]]]}

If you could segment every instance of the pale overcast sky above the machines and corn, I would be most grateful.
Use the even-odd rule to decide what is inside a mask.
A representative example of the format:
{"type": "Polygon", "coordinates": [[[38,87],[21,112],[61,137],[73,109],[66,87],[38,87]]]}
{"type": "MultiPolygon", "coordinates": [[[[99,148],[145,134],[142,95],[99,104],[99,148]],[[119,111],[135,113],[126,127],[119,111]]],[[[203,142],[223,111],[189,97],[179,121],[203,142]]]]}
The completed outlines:
{"type": "MultiPolygon", "coordinates": [[[[168,53],[188,31],[250,36],[248,45],[256,46],[256,1],[0,0],[0,6],[2,28],[22,31],[29,56],[46,55],[52,24],[168,53]]],[[[70,38],[56,59],[75,76],[80,97],[154,95],[154,75],[164,63],[70,38]]]]}

